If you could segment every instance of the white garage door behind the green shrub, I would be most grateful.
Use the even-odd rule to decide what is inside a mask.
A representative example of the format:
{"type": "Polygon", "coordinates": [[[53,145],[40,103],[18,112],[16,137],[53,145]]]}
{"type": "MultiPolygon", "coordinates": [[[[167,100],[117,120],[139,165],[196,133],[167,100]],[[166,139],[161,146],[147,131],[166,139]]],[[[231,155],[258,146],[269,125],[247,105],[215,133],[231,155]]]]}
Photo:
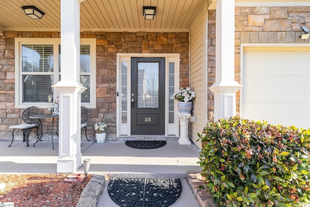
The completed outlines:
{"type": "Polygon", "coordinates": [[[242,85],[242,117],[310,127],[310,50],[245,48],[242,85]]]}

